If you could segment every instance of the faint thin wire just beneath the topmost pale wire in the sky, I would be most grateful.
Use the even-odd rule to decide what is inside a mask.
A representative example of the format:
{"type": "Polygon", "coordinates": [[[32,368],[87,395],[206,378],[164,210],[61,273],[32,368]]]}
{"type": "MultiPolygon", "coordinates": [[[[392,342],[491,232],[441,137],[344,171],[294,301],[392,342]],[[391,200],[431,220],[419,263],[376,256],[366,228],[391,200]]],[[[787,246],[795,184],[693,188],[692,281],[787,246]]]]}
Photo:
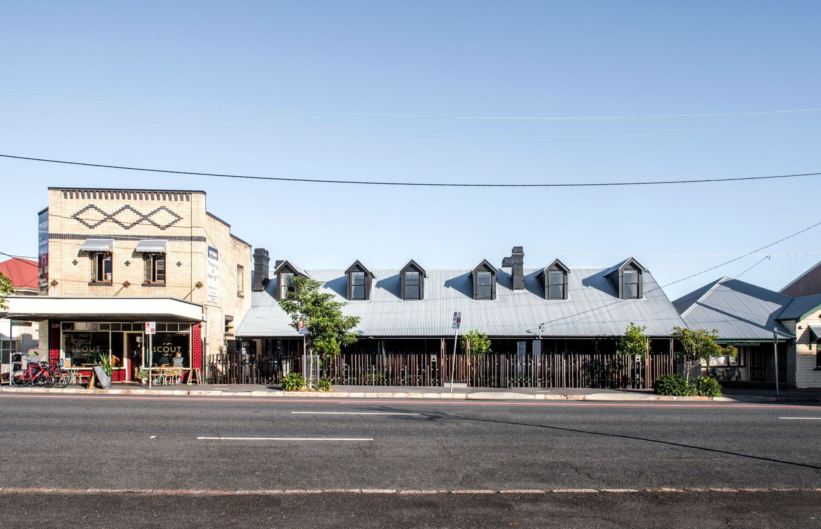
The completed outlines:
{"type": "Polygon", "coordinates": [[[234,129],[241,131],[269,131],[269,132],[297,132],[305,134],[333,134],[341,136],[395,136],[404,138],[466,138],[466,139],[488,139],[488,140],[560,140],[560,139],[584,139],[584,138],[656,138],[664,136],[725,136],[736,134],[764,134],[768,132],[797,132],[797,131],[819,131],[821,127],[804,127],[797,129],[770,129],[766,131],[718,131],[718,132],[670,132],[659,134],[576,134],[576,135],[548,135],[548,136],[528,136],[528,135],[466,135],[466,134],[398,134],[392,132],[356,132],[356,131],[312,131],[305,129],[274,129],[268,127],[245,127],[239,125],[212,125],[210,123],[186,123],[186,122],[163,122],[152,119],[135,119],[132,117],[111,117],[94,116],[90,114],[72,114],[62,112],[48,112],[45,110],[32,110],[30,108],[9,108],[0,107],[0,110],[13,110],[16,112],[30,112],[38,114],[50,114],[52,116],[67,117],[90,117],[93,119],[108,119],[117,122],[135,123],[156,123],[159,125],[181,125],[184,127],[209,127],[221,129],[234,129]]]}

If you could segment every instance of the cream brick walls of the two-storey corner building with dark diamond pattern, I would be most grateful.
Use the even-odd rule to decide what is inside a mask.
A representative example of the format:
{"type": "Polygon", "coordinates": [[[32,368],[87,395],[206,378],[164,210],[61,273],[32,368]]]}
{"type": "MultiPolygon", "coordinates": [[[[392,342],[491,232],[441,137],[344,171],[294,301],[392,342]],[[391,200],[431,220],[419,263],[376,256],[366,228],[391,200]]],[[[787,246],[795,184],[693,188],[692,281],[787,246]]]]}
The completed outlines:
{"type": "Polygon", "coordinates": [[[50,187],[44,219],[41,296],[191,301],[203,306],[204,357],[232,347],[250,307],[251,246],[209,214],[204,191],[50,187]]]}

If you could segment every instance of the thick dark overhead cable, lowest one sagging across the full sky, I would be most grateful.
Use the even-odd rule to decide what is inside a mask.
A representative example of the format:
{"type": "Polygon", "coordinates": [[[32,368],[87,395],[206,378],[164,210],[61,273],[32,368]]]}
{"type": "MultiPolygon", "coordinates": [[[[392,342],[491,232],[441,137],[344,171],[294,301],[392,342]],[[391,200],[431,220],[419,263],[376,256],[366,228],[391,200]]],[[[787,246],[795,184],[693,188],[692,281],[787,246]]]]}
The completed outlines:
{"type": "Polygon", "coordinates": [[[222,174],[222,173],[195,173],[193,171],[174,171],[172,169],[151,169],[151,168],[137,168],[123,165],[108,165],[105,163],[87,163],[87,162],[69,162],[67,160],[55,160],[45,158],[32,158],[29,156],[15,156],[12,154],[0,154],[0,157],[32,160],[35,162],[48,163],[65,163],[67,165],[82,165],[85,167],[97,167],[108,169],[124,169],[127,171],[144,171],[148,173],[169,173],[169,174],[186,174],[196,177],[222,177],[222,178],[246,178],[250,180],[274,180],[278,182],[312,182],[323,184],[360,184],[369,186],[429,186],[429,187],[601,187],[601,186],[654,186],[663,184],[696,184],[705,182],[741,182],[742,180],[768,180],[773,178],[794,178],[794,177],[814,177],[821,173],[800,173],[800,174],[782,174],[770,177],[736,177],[736,178],[702,178],[694,180],[659,180],[652,182],[585,182],[585,183],[558,183],[558,184],[457,184],[457,183],[439,183],[439,182],[376,182],[376,181],[359,181],[359,180],[327,180],[321,178],[286,178],[286,177],[252,177],[249,175],[239,174],[222,174]]]}

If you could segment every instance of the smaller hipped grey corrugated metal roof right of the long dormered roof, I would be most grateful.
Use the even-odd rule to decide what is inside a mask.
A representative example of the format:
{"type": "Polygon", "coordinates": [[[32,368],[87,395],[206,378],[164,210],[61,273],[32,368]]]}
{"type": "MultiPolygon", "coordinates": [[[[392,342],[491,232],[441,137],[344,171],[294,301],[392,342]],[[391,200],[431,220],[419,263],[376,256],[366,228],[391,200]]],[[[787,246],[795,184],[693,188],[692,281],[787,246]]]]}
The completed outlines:
{"type": "Polygon", "coordinates": [[[794,338],[777,318],[792,298],[733,278],[721,278],[673,301],[691,329],[716,329],[721,339],[794,338]]]}

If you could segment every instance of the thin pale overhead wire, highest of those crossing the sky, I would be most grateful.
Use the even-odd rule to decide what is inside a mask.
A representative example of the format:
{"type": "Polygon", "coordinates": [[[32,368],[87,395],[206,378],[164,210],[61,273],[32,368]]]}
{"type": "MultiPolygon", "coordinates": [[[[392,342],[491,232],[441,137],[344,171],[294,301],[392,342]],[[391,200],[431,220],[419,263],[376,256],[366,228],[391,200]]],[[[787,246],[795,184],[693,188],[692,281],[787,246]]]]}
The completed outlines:
{"type": "Polygon", "coordinates": [[[407,117],[415,119],[466,119],[466,120],[489,120],[489,121],[626,121],[626,120],[654,120],[654,119],[714,119],[725,117],[790,117],[790,116],[814,116],[821,112],[821,108],[805,108],[800,110],[768,110],[759,112],[736,112],[736,113],[701,113],[701,114],[662,114],[648,116],[544,116],[544,117],[514,117],[514,116],[443,116],[428,114],[380,114],[380,113],[355,113],[355,112],[329,112],[323,110],[296,110],[291,108],[262,108],[262,107],[241,107],[233,105],[186,103],[182,101],[161,101],[156,99],[135,99],[114,97],[109,95],[75,94],[72,92],[57,92],[55,90],[35,90],[29,88],[19,88],[14,86],[0,86],[0,91],[16,92],[21,94],[50,95],[57,97],[67,97],[76,99],[97,99],[100,101],[116,101],[120,103],[141,103],[156,104],[175,107],[193,108],[218,108],[222,110],[245,110],[252,112],[273,112],[291,114],[319,114],[325,116],[352,116],[352,117],[407,117]]]}

